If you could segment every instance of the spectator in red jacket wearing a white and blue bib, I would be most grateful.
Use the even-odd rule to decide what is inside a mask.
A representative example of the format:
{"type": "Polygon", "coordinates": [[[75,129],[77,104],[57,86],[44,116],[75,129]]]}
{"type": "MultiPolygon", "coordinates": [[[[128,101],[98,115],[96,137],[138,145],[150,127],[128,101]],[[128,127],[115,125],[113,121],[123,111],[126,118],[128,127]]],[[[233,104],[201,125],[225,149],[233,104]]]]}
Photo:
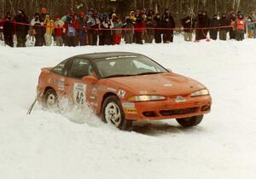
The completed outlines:
{"type": "Polygon", "coordinates": [[[66,45],[75,47],[77,45],[76,37],[78,35],[79,24],[74,18],[67,17],[67,23],[64,24],[66,45]]]}

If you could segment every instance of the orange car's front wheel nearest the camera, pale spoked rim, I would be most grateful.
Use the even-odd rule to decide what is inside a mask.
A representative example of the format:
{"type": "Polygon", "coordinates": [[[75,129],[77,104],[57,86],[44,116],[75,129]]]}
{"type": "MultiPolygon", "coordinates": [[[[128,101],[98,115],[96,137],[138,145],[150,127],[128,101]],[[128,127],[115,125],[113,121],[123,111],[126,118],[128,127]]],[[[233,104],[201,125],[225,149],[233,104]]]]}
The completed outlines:
{"type": "Polygon", "coordinates": [[[110,95],[103,101],[102,120],[115,125],[119,130],[132,130],[132,121],[125,119],[123,107],[115,95],[110,95]]]}

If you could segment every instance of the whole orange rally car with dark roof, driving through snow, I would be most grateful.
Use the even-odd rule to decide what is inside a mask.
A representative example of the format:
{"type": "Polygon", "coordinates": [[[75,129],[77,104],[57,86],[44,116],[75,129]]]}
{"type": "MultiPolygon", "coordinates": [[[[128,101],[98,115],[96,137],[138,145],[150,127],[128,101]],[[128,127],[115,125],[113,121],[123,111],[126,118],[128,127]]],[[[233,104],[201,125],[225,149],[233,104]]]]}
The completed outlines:
{"type": "Polygon", "coordinates": [[[76,55],[42,68],[37,90],[46,108],[67,98],[73,105],[90,106],[121,130],[148,119],[176,118],[184,127],[193,126],[212,105],[204,85],[128,52],[76,55]]]}

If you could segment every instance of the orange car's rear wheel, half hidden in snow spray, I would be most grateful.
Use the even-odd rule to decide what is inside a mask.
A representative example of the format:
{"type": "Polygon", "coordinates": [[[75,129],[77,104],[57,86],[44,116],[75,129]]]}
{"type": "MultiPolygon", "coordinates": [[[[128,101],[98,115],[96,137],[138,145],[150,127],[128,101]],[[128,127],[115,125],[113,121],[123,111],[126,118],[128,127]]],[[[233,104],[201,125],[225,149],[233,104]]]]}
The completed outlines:
{"type": "Polygon", "coordinates": [[[45,109],[56,109],[58,107],[58,98],[55,90],[49,89],[44,95],[44,108],[45,109]],[[49,102],[51,101],[51,103],[49,102]]]}

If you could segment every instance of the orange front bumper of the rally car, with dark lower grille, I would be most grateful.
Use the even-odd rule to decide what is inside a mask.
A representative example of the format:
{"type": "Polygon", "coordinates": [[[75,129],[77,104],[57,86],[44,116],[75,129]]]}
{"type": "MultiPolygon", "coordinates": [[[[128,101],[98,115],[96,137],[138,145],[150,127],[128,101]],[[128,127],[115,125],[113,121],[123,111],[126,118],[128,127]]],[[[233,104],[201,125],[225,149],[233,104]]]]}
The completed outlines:
{"type": "Polygon", "coordinates": [[[200,116],[211,111],[212,98],[210,95],[189,97],[177,102],[172,98],[166,101],[122,101],[125,119],[154,120],[166,118],[188,118],[200,116]]]}

